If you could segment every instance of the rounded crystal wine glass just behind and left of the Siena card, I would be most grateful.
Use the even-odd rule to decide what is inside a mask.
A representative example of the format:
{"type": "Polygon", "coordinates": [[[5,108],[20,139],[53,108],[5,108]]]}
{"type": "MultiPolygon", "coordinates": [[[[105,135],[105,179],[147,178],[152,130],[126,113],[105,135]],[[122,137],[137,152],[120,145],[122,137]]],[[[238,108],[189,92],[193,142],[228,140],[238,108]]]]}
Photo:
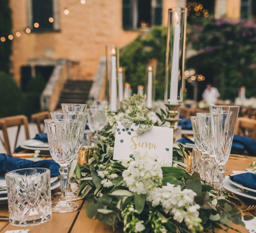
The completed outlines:
{"type": "Polygon", "coordinates": [[[92,108],[88,109],[88,125],[91,131],[95,132],[93,139],[96,144],[98,141],[98,130],[105,127],[107,123],[106,111],[102,108],[92,108]]]}

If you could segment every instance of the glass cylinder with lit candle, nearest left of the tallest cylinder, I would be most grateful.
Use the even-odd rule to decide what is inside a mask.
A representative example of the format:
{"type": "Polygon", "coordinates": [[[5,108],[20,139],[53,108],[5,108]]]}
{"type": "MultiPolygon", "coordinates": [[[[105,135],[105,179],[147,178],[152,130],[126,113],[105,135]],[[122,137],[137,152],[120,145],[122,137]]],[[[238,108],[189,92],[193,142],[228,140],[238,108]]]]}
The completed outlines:
{"type": "Polygon", "coordinates": [[[155,101],[155,67],[153,65],[147,66],[147,75],[146,75],[146,94],[147,94],[147,109],[152,109],[153,102],[155,101]]]}

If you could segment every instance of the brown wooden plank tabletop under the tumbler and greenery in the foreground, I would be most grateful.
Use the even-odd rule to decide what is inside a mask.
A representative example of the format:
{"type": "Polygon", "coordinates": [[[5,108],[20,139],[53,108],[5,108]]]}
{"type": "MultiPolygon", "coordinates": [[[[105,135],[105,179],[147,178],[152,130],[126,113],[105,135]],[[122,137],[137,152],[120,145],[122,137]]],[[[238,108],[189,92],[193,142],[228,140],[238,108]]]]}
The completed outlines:
{"type": "MultiPolygon", "coordinates": [[[[232,174],[233,170],[244,170],[248,167],[249,162],[256,160],[255,157],[246,157],[242,159],[229,159],[226,164],[225,175],[232,174]],[[246,159],[245,159],[246,158],[246,159]]],[[[80,205],[79,210],[71,213],[53,213],[52,219],[48,222],[31,227],[23,227],[23,229],[30,229],[29,233],[45,233],[45,232],[54,232],[54,233],[112,233],[113,229],[101,223],[98,220],[89,219],[85,214],[85,209],[83,208],[86,205],[86,201],[77,201],[77,204],[80,205]]],[[[242,212],[242,215],[249,214],[249,212],[242,212]]],[[[0,215],[9,216],[7,204],[0,205],[0,215]]],[[[240,230],[240,232],[248,232],[244,227],[240,225],[232,224],[232,226],[240,230]]],[[[0,233],[4,233],[7,230],[17,230],[22,229],[22,227],[15,227],[9,224],[7,221],[0,221],[0,233]]],[[[217,229],[218,233],[226,233],[224,230],[217,229]]],[[[121,230],[116,230],[115,232],[122,232],[121,230]]],[[[236,232],[234,230],[229,230],[229,233],[236,232]]]]}

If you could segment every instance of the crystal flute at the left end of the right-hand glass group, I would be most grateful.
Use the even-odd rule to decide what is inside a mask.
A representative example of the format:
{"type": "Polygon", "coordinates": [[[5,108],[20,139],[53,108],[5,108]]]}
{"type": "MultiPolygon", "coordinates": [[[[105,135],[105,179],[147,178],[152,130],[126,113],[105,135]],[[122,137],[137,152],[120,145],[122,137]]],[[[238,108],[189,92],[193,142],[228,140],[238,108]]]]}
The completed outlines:
{"type": "Polygon", "coordinates": [[[206,180],[206,165],[209,155],[204,152],[203,146],[202,146],[202,134],[199,130],[199,122],[197,116],[190,116],[191,123],[192,123],[192,129],[194,134],[194,141],[197,149],[201,151],[201,161],[202,161],[202,179],[206,180]]]}

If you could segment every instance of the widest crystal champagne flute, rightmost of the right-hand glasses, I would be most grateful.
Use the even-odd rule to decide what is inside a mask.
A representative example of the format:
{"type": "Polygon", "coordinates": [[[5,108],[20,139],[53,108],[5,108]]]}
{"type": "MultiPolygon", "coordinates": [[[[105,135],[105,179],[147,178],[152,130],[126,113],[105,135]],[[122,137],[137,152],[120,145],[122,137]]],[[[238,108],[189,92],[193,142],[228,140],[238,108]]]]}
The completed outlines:
{"type": "Polygon", "coordinates": [[[222,195],[225,164],[231,151],[239,106],[211,106],[213,148],[218,163],[218,196],[222,195]]]}

